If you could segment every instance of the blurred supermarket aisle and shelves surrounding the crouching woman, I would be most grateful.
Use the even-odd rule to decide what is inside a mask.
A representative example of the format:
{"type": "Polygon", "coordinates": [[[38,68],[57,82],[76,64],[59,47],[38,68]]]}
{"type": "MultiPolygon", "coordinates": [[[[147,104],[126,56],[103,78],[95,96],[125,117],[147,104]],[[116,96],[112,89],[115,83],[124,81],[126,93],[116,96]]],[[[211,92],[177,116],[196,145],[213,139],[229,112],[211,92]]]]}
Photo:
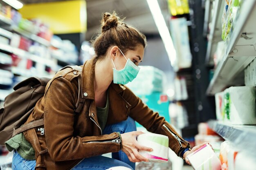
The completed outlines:
{"type": "MultiPolygon", "coordinates": [[[[256,162],[243,156],[255,158],[248,148],[256,148],[255,6],[255,0],[0,0],[0,102],[28,77],[52,77],[92,58],[90,40],[102,14],[116,11],[148,41],[127,86],[192,147],[210,142],[222,170],[240,170],[256,162]]],[[[1,169],[8,169],[9,154],[0,146],[1,169]]],[[[137,163],[136,170],[193,169],[183,165],[170,151],[168,163],[137,163]]]]}

